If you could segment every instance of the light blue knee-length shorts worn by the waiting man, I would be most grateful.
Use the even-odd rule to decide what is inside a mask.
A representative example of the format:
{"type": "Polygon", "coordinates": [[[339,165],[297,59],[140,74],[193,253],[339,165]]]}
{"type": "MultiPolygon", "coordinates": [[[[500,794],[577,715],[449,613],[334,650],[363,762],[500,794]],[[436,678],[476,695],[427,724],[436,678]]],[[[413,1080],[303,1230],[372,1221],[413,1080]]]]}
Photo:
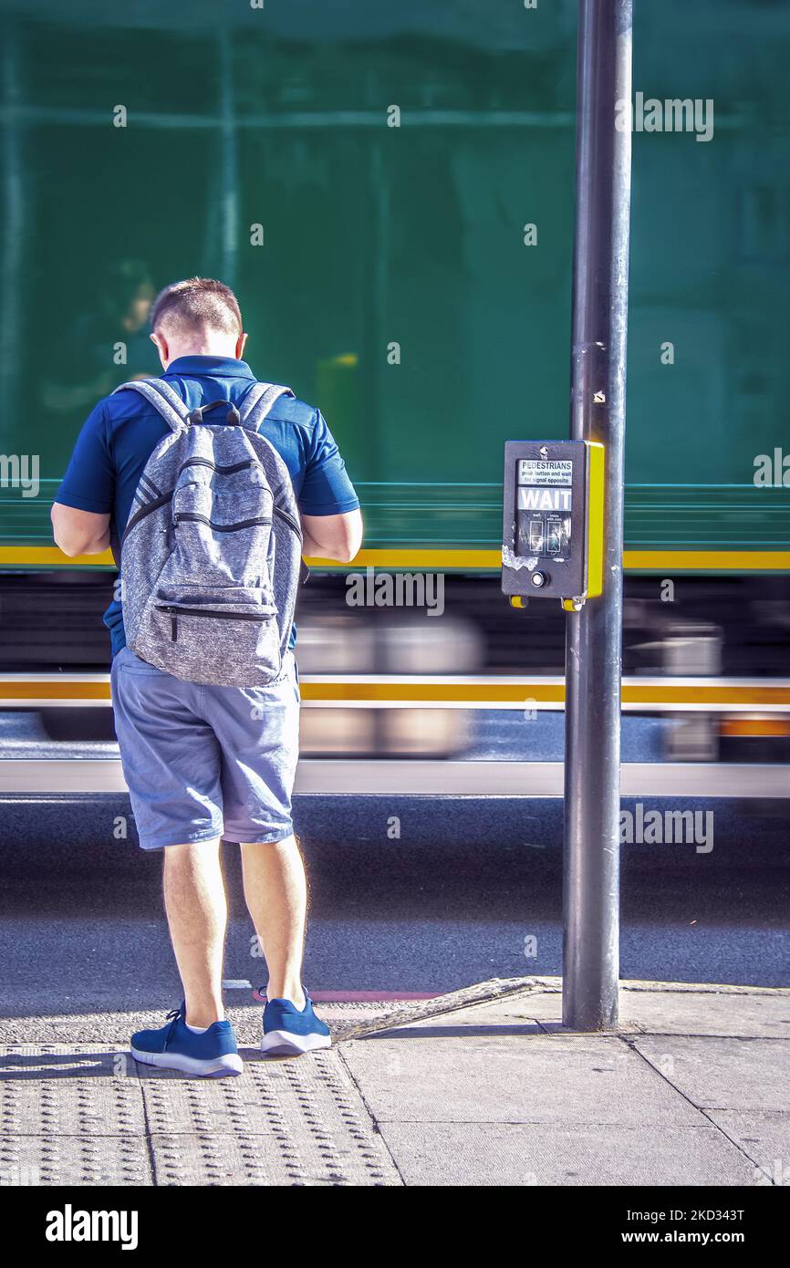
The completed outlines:
{"type": "Polygon", "coordinates": [[[143,850],[283,841],[299,756],[293,652],[266,687],[183,682],[124,647],[110,675],[115,734],[143,850]]]}

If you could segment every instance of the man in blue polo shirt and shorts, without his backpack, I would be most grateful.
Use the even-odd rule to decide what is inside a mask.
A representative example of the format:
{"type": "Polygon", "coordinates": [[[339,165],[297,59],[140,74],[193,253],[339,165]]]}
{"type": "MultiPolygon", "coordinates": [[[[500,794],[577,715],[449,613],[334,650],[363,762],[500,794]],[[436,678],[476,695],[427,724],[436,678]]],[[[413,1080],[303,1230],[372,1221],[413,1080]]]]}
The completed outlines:
{"type": "MultiPolygon", "coordinates": [[[[190,410],[243,399],[255,377],[241,359],[247,336],[228,287],[207,278],[174,283],[157,297],[151,327],[164,378],[190,410]]],[[[52,507],[61,550],[99,554],[110,547],[120,563],[139,476],[167,431],[136,392],[99,402],[52,507]]],[[[353,559],[361,541],[359,501],[320,411],[280,397],[260,432],[290,473],[303,553],[353,559]]],[[[222,836],[240,844],[245,896],[269,970],[264,1051],[328,1046],[328,1028],[301,979],[307,886],[290,820],[299,709],[293,656],[265,687],[198,686],[134,656],[119,602],[104,621],[123,770],[142,848],[164,850],[165,907],[184,985],[181,1008],[161,1030],[132,1036],[132,1051],[186,1073],[241,1071],[222,1006],[222,836]]]]}

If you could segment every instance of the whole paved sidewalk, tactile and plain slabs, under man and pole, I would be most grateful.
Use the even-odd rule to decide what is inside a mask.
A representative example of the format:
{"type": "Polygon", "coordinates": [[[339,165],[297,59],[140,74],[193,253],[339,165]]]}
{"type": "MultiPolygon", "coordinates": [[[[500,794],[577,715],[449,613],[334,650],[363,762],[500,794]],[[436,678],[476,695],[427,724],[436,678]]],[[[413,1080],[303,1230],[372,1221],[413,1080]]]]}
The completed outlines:
{"type": "Polygon", "coordinates": [[[331,1051],[221,1080],[136,1065],[159,1014],[0,1022],[0,1183],[790,1184],[787,989],[624,983],[605,1035],[557,978],[322,1012],[331,1051]]]}

